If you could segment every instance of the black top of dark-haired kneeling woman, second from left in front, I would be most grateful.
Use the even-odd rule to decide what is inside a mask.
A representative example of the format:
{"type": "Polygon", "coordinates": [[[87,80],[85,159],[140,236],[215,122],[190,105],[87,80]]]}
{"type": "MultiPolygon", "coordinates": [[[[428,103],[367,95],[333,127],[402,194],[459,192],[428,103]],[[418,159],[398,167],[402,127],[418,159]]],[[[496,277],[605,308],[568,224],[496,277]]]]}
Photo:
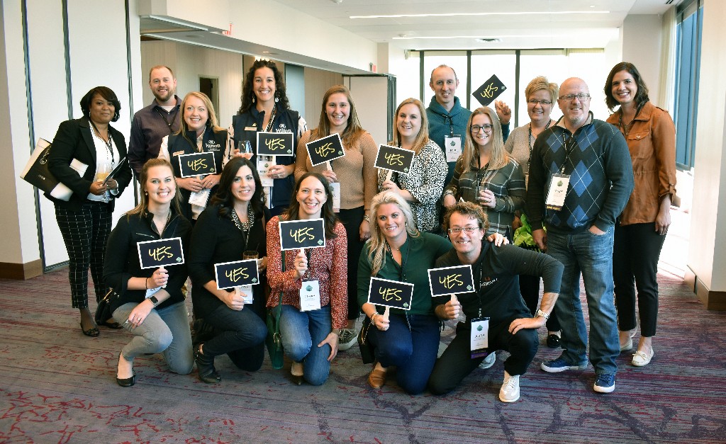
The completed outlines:
{"type": "MultiPolygon", "coordinates": [[[[256,250],[259,258],[267,255],[266,221],[272,217],[267,208],[263,215],[256,215],[255,222],[245,235],[234,225],[229,216],[219,215],[220,205],[207,207],[197,218],[192,241],[189,245],[189,276],[192,278],[192,303],[196,318],[204,318],[224,303],[208,292],[204,284],[214,280],[214,264],[242,260],[242,253],[256,250]]],[[[266,273],[260,274],[260,281],[253,285],[253,310],[261,316],[265,307],[264,288],[266,273]]],[[[227,290],[229,291],[229,289],[227,290]]]]}

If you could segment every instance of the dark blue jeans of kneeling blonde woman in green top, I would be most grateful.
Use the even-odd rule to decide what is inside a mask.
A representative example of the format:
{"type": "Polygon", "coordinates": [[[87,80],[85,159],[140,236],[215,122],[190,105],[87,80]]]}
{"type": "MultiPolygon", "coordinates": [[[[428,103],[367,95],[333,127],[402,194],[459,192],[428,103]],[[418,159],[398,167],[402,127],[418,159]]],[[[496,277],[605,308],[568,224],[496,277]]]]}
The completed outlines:
{"type": "Polygon", "coordinates": [[[385,332],[371,326],[368,337],[381,366],[396,366],[396,382],[410,395],[425,390],[439,351],[439,320],[431,315],[391,314],[385,332]]]}

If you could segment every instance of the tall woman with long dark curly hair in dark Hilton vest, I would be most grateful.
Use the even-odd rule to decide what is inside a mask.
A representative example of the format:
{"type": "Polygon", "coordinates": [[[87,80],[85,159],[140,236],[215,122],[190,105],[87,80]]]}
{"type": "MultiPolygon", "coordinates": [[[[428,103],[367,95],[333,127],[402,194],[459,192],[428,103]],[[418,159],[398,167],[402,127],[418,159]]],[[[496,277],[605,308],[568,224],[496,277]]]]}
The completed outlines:
{"type": "MultiPolygon", "coordinates": [[[[302,134],[307,131],[305,120],[297,111],[290,110],[285,94],[285,79],[277,65],[269,60],[256,60],[245,76],[242,85],[242,106],[232,117],[229,127],[229,155],[241,155],[250,159],[258,170],[267,170],[267,177],[273,179],[273,186],[265,187],[272,215],[280,215],[290,205],[290,196],[295,185],[295,147],[302,134]],[[276,156],[272,165],[271,156],[259,159],[257,154],[257,132],[293,133],[293,155],[276,156]],[[239,152],[240,142],[250,142],[251,153],[239,152]],[[268,161],[269,166],[258,165],[268,161]]],[[[226,156],[226,157],[229,157],[226,156]]]]}

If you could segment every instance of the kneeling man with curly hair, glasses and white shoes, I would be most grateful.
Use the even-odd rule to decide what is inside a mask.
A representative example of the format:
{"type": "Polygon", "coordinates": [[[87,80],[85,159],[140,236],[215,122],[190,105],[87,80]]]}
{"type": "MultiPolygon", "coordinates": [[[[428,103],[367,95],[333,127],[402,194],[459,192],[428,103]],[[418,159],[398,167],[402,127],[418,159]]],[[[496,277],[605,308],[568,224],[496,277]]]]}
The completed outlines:
{"type": "Polygon", "coordinates": [[[537,353],[537,329],[544,326],[555,306],[563,266],[549,255],[513,245],[496,247],[484,239],[489,221],[481,205],[459,202],[444,216],[452,250],[436,260],[436,267],[470,265],[475,291],[458,298],[435,297],[434,313],[456,319],[463,311],[466,322],[457,325],[456,337],[433,366],[429,389],[436,395],[454,390],[484,359],[487,352],[507,350],[504,382],[499,400],[519,399],[519,377],[537,353]],[[544,295],[534,318],[519,292],[519,274],[542,276],[544,295]],[[480,328],[481,327],[481,328],[480,328]],[[486,351],[480,338],[486,334],[486,351]]]}

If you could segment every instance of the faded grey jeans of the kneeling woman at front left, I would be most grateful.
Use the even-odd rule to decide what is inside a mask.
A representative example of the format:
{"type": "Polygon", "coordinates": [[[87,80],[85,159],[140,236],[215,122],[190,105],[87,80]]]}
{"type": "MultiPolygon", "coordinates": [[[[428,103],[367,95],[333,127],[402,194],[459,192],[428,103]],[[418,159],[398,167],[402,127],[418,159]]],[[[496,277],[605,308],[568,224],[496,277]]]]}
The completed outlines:
{"type": "Polygon", "coordinates": [[[137,303],[126,303],[113,311],[113,318],[134,334],[131,342],[121,348],[127,361],[144,353],[163,353],[171,371],[189,374],[194,364],[192,334],[189,332],[187,306],[183,302],[165,308],[154,308],[144,322],[135,329],[126,321],[137,303]]]}

